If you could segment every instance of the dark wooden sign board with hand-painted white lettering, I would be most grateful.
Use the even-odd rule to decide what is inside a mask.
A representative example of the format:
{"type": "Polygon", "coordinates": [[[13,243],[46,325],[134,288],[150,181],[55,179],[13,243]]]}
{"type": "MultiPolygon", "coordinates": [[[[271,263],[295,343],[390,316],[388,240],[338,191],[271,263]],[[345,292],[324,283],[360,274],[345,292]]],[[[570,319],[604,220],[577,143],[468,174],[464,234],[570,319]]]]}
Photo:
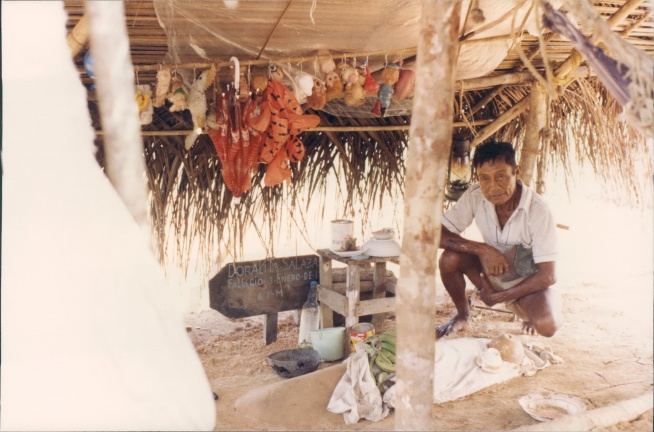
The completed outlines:
{"type": "Polygon", "coordinates": [[[319,273],[317,255],[232,263],[209,281],[209,302],[228,318],[301,309],[319,273]]]}

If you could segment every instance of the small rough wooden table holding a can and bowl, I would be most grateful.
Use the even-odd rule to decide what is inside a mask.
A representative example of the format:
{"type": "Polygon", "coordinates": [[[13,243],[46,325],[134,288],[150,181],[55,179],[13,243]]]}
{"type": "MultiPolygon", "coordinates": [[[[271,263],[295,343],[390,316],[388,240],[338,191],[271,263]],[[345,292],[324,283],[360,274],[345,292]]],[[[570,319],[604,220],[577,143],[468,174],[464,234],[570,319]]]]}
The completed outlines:
{"type": "Polygon", "coordinates": [[[386,263],[400,263],[399,256],[366,257],[360,259],[342,257],[329,249],[317,251],[320,258],[320,286],[318,300],[320,301],[320,316],[322,327],[333,327],[334,312],[345,317],[345,335],[349,345],[350,327],[359,322],[363,315],[373,315],[372,324],[377,333],[382,331],[384,314],[392,312],[395,298],[386,297],[386,263]],[[347,265],[345,280],[345,295],[332,289],[332,260],[347,265]],[[359,299],[361,264],[374,264],[373,292],[371,300],[359,299]]]}

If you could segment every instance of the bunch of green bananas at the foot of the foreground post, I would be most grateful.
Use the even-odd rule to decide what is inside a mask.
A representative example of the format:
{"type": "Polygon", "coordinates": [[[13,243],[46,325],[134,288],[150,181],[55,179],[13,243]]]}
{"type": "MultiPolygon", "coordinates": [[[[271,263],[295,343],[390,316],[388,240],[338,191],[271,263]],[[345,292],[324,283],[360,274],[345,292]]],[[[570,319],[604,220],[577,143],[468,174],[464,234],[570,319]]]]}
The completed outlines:
{"type": "Polygon", "coordinates": [[[395,384],[395,345],[394,331],[386,331],[362,340],[370,361],[370,372],[377,381],[379,391],[384,394],[395,384]]]}

